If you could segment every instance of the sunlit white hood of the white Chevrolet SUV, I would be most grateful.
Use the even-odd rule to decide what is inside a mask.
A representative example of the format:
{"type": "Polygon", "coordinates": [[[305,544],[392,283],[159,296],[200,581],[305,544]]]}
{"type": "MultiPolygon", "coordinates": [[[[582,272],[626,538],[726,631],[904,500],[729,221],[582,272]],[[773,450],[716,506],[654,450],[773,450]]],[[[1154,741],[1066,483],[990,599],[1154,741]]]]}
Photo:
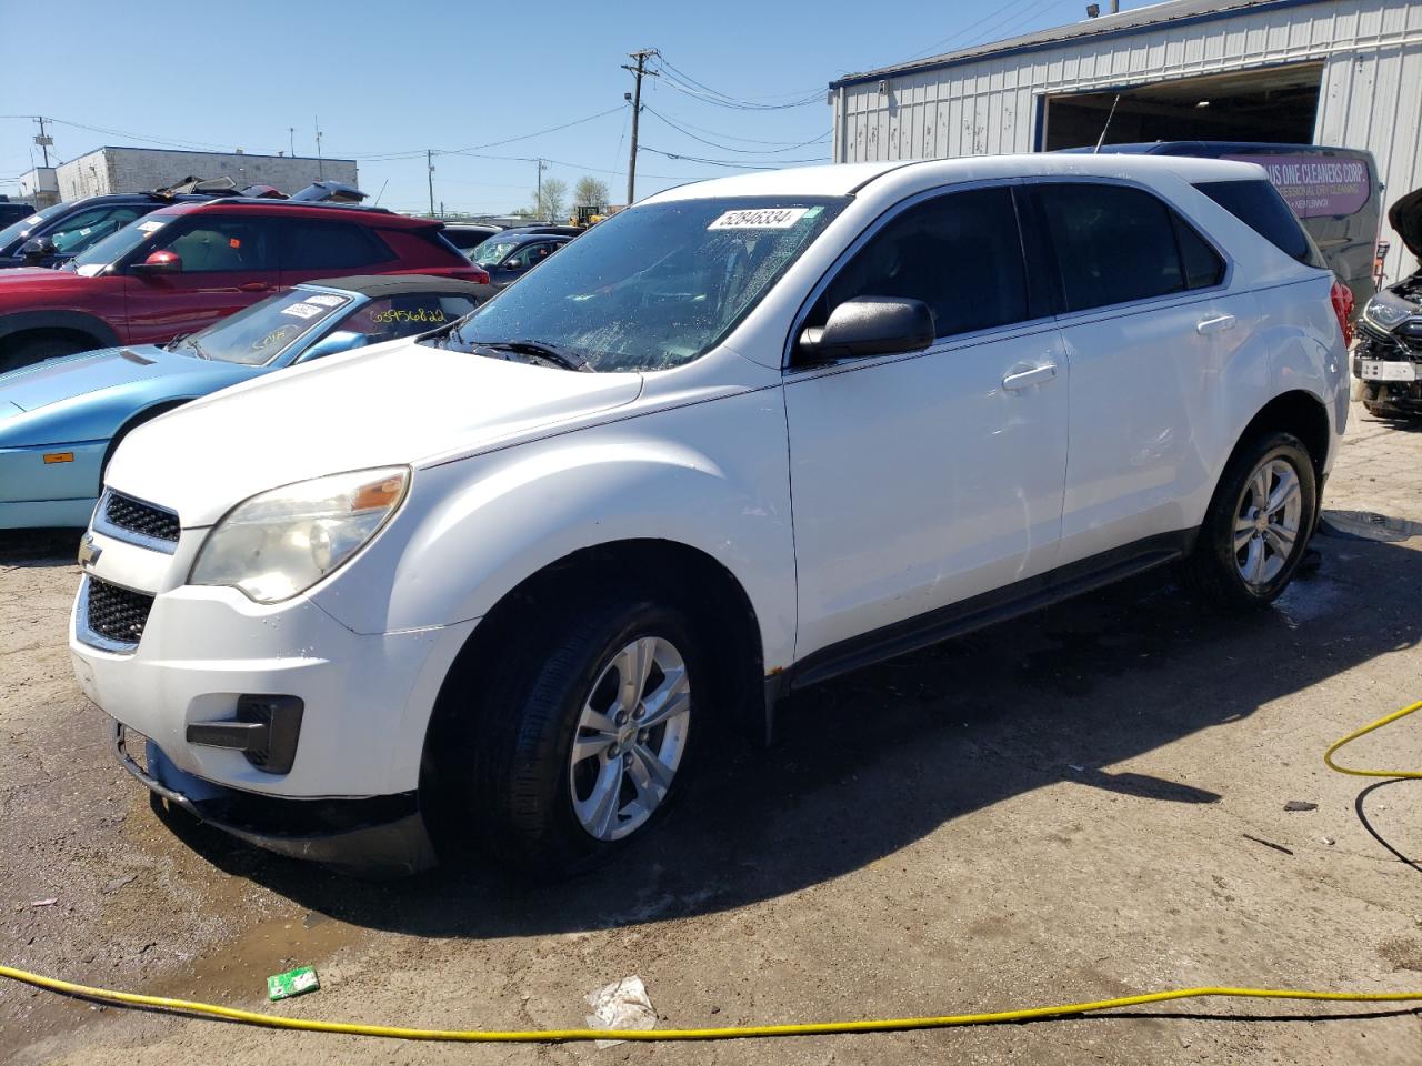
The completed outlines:
{"type": "Polygon", "coordinates": [[[586,374],[414,341],[215,392],[124,438],[107,485],[210,526],[267,489],[418,465],[630,404],[640,374],[586,374]]]}

